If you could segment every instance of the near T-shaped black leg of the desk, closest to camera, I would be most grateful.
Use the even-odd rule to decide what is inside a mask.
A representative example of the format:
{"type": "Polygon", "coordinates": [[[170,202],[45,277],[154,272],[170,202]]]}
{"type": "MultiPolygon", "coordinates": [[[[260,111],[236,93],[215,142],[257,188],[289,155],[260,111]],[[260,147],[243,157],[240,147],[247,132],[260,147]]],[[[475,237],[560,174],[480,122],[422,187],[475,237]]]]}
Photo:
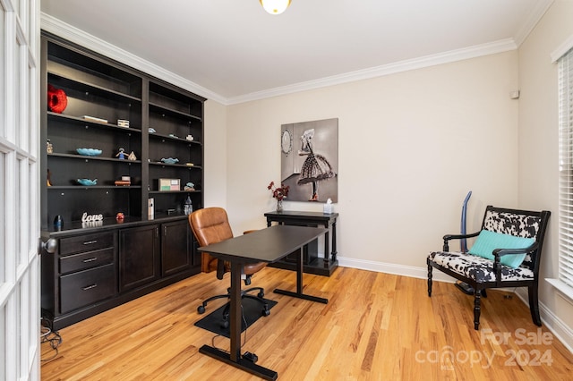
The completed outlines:
{"type": "Polygon", "coordinates": [[[229,311],[230,353],[203,345],[199,352],[243,369],[266,380],[276,380],[278,373],[241,358],[241,264],[231,262],[231,308],[229,311]]]}

